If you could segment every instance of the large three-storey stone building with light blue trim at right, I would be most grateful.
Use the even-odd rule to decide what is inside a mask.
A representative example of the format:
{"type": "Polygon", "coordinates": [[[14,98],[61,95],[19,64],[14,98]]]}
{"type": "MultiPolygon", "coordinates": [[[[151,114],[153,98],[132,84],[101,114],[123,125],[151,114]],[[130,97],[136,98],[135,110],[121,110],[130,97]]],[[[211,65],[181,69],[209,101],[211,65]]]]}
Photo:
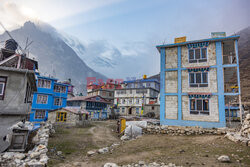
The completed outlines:
{"type": "Polygon", "coordinates": [[[161,54],[160,123],[225,127],[225,105],[240,104],[239,36],[156,46],[161,54]]]}

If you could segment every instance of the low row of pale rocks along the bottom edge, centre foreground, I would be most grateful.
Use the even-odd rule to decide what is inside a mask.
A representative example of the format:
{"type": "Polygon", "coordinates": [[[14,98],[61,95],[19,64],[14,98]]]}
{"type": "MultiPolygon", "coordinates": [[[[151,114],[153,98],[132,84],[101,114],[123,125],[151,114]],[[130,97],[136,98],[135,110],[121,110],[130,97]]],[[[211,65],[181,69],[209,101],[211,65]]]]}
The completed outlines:
{"type": "Polygon", "coordinates": [[[177,167],[175,164],[172,163],[145,163],[144,161],[139,161],[138,163],[132,163],[128,165],[117,165],[115,163],[106,163],[104,167],[177,167]]]}

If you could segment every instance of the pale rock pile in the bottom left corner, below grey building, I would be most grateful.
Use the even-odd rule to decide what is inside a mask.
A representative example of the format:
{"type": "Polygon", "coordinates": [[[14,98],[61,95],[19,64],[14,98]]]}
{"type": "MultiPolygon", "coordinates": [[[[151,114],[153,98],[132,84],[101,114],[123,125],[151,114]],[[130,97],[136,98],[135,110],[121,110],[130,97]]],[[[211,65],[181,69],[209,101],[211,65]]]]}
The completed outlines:
{"type": "Polygon", "coordinates": [[[19,152],[4,152],[0,154],[0,166],[15,166],[15,167],[27,167],[27,166],[39,166],[43,167],[47,165],[48,156],[46,155],[48,149],[48,139],[51,133],[54,133],[54,129],[51,124],[44,124],[37,131],[36,136],[32,139],[32,143],[35,147],[28,153],[19,152]]]}

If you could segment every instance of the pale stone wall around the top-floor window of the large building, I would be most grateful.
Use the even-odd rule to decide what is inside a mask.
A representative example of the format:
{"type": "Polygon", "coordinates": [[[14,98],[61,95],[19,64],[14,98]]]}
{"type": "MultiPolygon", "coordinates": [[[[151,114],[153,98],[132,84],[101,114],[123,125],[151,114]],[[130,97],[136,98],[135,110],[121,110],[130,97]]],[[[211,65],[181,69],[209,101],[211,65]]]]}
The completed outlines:
{"type": "Polygon", "coordinates": [[[213,66],[216,65],[215,42],[212,42],[207,47],[207,62],[189,63],[187,46],[181,47],[181,66],[182,67],[197,67],[197,66],[213,66]]]}

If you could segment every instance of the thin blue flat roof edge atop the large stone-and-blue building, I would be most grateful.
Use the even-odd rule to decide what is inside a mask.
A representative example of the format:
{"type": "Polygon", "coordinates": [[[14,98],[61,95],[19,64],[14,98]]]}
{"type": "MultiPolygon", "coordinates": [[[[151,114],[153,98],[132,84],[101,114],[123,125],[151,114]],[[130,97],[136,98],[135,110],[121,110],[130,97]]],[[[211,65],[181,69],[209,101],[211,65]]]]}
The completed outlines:
{"type": "Polygon", "coordinates": [[[224,41],[224,40],[239,39],[239,38],[240,38],[239,35],[233,35],[233,36],[227,36],[227,37],[219,37],[219,38],[207,38],[207,39],[193,40],[193,41],[187,41],[187,42],[182,42],[182,43],[172,43],[172,44],[157,45],[156,48],[160,52],[160,48],[170,48],[170,47],[187,45],[187,44],[190,44],[190,43],[216,42],[216,41],[224,41]]]}

